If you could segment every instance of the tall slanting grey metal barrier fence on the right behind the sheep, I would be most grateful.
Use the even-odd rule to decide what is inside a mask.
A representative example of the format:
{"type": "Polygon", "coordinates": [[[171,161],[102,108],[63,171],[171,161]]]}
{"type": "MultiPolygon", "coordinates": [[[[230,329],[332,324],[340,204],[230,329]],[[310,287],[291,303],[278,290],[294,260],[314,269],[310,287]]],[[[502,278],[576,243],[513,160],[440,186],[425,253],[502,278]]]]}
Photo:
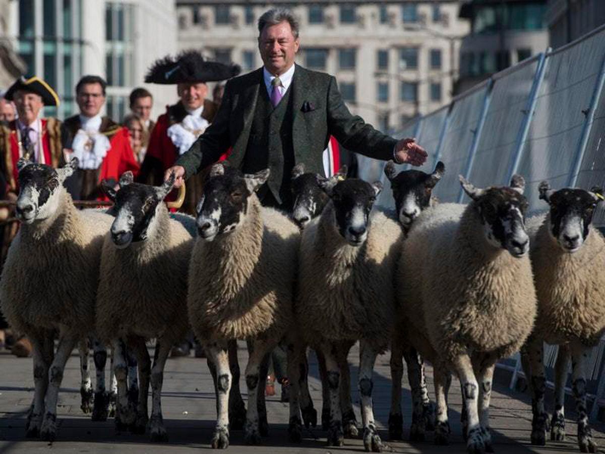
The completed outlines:
{"type": "MultiPolygon", "coordinates": [[[[508,184],[515,173],[525,177],[529,215],[546,211],[538,184],[552,188],[605,186],[605,25],[556,50],[494,74],[456,96],[449,105],[411,120],[395,137],[416,137],[429,152],[425,171],[438,160],[445,175],[434,190],[442,202],[464,202],[458,175],[476,186],[508,184]]],[[[381,180],[377,203],[393,208],[384,162],[359,156],[360,177],[381,180]]],[[[405,169],[408,166],[399,166],[405,169]]],[[[594,225],[605,227],[605,204],[594,225]]],[[[589,392],[605,406],[605,340],[592,352],[589,392]]],[[[547,349],[552,369],[556,348],[547,349]]],[[[513,380],[519,372],[512,358],[513,380]]],[[[552,370],[550,371],[552,372],[552,370]]],[[[511,383],[514,386],[514,383],[511,383]]],[[[597,416],[594,405],[591,418],[597,416]]]]}

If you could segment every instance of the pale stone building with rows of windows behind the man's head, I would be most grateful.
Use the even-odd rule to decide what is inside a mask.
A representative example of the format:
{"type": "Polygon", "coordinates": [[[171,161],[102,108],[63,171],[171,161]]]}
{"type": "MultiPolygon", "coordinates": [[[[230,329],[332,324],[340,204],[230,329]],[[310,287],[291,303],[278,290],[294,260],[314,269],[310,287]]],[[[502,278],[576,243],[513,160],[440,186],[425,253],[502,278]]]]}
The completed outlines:
{"type": "Polygon", "coordinates": [[[396,129],[450,101],[468,33],[460,1],[177,0],[178,47],[258,68],[257,21],[279,5],[300,21],[296,61],[335,75],[350,110],[374,126],[396,129]]]}

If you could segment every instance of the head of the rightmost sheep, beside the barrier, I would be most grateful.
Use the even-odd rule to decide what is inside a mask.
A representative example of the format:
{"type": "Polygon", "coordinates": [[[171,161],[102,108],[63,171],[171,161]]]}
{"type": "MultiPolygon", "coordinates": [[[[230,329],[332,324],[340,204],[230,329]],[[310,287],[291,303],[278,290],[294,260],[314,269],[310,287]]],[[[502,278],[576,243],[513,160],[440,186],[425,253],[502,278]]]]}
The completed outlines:
{"type": "Polygon", "coordinates": [[[548,182],[543,181],[538,191],[540,199],[551,206],[549,223],[552,237],[564,251],[578,251],[589,234],[595,208],[603,200],[603,189],[595,186],[590,191],[577,188],[554,191],[548,182]]]}

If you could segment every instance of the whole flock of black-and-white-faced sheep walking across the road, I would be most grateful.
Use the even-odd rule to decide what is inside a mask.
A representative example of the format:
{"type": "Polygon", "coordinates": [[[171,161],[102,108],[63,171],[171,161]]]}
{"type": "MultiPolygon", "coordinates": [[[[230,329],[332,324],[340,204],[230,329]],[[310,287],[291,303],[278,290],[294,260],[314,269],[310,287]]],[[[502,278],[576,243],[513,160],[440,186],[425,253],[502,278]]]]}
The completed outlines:
{"type": "Polygon", "coordinates": [[[292,215],[264,208],[255,191],[269,170],[241,174],[212,167],[197,219],[171,214],[162,186],[120,178],[107,188],[107,212],[77,210],[63,182],[72,160],[53,169],[19,160],[21,228],[0,281],[5,317],[33,344],[34,399],[28,436],[56,438],[57,393],[74,347],[82,359],[82,409],[91,410],[88,338],[96,348],[93,419],[114,414],[116,427],[165,441],[163,370],[172,345],[192,329],[203,343],[215,382],[217,425],[212,447],[229,446],[229,430],[257,444],[267,432],[266,356],[286,346],[290,380],[288,433],[301,440],[315,425],[307,385],[307,347],[316,350],[323,387],[321,422],[329,446],[357,435],[347,354],[359,341],[362,438],[381,452],[372,409],[376,356],[391,350],[391,438],[401,438],[402,358],[413,409],[410,438],[428,430],[446,444],[447,393],[454,375],[463,396],[469,453],[492,452],[489,399],[495,363],[521,350],[532,393],[532,444],[564,439],[564,384],[569,360],[578,413],[578,445],[596,452],[587,422],[586,361],[605,329],[605,242],[591,228],[603,191],[543,182],[546,215],[525,219],[525,181],[476,188],[460,177],[468,205],[437,203],[431,174],[385,167],[396,213],[372,209],[379,182],[292,173],[292,215]],[[59,338],[54,349],[54,340],[59,338]],[[155,339],[153,362],[146,341],[155,339]],[[235,340],[252,343],[241,399],[235,340]],[[543,342],[561,346],[555,367],[555,409],[545,410],[543,342]],[[115,374],[108,398],[105,345],[115,374]],[[104,354],[104,355],[103,355],[104,354]],[[136,363],[134,359],[136,358],[136,363]],[[434,410],[424,378],[434,368],[434,410]],[[136,366],[135,366],[136,364],[136,366]],[[138,371],[135,369],[138,368],[138,371]],[[100,371],[100,372],[99,372],[100,371]],[[138,372],[138,373],[137,373],[138,372]],[[137,377],[138,375],[138,377],[137,377]],[[151,383],[152,408],[148,415],[151,383]],[[110,406],[108,410],[108,405],[110,406]]]}

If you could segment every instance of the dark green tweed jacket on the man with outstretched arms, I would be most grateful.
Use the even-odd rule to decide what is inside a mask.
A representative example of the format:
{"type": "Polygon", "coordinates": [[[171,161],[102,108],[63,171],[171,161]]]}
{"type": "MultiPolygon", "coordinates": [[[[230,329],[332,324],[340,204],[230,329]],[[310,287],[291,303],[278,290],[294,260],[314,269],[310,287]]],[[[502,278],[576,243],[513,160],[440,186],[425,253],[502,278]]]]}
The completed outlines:
{"type": "MultiPolygon", "coordinates": [[[[376,159],[393,159],[397,140],[353,116],[333,76],[296,65],[290,89],[295,162],[304,163],[307,171],[323,173],[322,152],[330,135],[348,150],[376,159]]],[[[230,146],[229,162],[241,167],[260,90],[266,90],[263,68],[227,81],[214,122],[175,162],[185,168],[187,178],[216,162],[230,146]]]]}

